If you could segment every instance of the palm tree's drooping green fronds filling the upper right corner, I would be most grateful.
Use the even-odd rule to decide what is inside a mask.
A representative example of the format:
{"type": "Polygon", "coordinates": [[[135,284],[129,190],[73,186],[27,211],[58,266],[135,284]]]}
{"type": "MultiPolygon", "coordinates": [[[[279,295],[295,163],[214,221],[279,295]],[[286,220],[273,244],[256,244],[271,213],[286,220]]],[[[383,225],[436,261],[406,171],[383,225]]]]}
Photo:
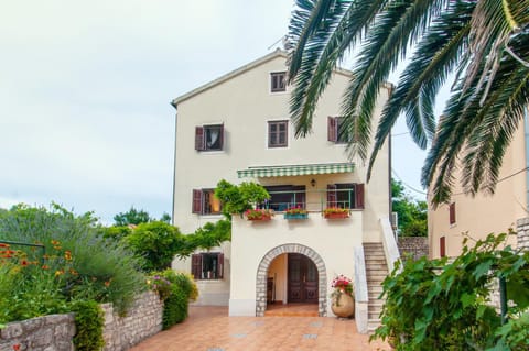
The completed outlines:
{"type": "Polygon", "coordinates": [[[403,113],[414,142],[422,149],[431,144],[422,182],[431,186],[434,205],[450,199],[460,165],[465,193],[494,193],[529,103],[529,0],[296,0],[289,32],[296,136],[310,132],[333,69],[361,44],[342,114],[348,133],[358,136],[348,145],[349,156],[369,158],[368,178],[403,113]],[[410,51],[369,154],[378,90],[410,51]],[[436,124],[435,97],[451,73],[451,97],[436,124]]]}

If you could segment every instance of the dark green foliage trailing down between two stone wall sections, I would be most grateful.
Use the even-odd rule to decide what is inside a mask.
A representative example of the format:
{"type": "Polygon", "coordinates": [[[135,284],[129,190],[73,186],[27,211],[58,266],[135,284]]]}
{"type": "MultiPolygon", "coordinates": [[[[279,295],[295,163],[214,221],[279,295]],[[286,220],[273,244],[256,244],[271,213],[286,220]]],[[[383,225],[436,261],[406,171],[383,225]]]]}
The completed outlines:
{"type": "Polygon", "coordinates": [[[75,312],[74,336],[75,350],[99,351],[105,345],[102,339],[102,327],[105,319],[99,304],[89,300],[78,300],[72,304],[72,311],[75,312]]]}

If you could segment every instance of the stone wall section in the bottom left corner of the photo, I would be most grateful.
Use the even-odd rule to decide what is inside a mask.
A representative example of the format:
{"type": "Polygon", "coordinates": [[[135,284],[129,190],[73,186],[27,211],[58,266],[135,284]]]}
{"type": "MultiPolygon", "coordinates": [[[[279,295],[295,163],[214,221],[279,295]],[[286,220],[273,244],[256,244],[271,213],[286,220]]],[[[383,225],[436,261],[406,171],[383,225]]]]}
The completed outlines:
{"type": "Polygon", "coordinates": [[[0,330],[0,351],[73,351],[74,334],[74,314],[12,322],[0,330]]]}

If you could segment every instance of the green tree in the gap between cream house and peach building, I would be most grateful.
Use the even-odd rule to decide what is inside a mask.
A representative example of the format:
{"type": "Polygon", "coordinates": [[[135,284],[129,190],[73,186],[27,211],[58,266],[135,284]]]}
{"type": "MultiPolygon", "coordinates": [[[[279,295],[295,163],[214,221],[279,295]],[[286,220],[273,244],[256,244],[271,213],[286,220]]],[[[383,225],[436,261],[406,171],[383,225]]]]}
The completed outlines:
{"type": "Polygon", "coordinates": [[[402,237],[428,235],[428,205],[406,194],[402,182],[391,179],[391,207],[399,216],[402,237]]]}

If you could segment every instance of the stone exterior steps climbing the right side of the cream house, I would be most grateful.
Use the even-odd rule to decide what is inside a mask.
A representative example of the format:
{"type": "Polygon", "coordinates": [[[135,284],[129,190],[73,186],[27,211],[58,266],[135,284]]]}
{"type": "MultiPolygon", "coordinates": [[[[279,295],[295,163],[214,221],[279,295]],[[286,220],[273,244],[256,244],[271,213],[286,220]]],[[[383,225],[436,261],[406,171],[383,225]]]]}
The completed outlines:
{"type": "Polygon", "coordinates": [[[378,297],[382,293],[382,281],[388,275],[388,265],[382,243],[365,242],[364,256],[366,259],[366,276],[368,292],[368,332],[371,333],[380,326],[380,311],[384,300],[378,297]]]}

